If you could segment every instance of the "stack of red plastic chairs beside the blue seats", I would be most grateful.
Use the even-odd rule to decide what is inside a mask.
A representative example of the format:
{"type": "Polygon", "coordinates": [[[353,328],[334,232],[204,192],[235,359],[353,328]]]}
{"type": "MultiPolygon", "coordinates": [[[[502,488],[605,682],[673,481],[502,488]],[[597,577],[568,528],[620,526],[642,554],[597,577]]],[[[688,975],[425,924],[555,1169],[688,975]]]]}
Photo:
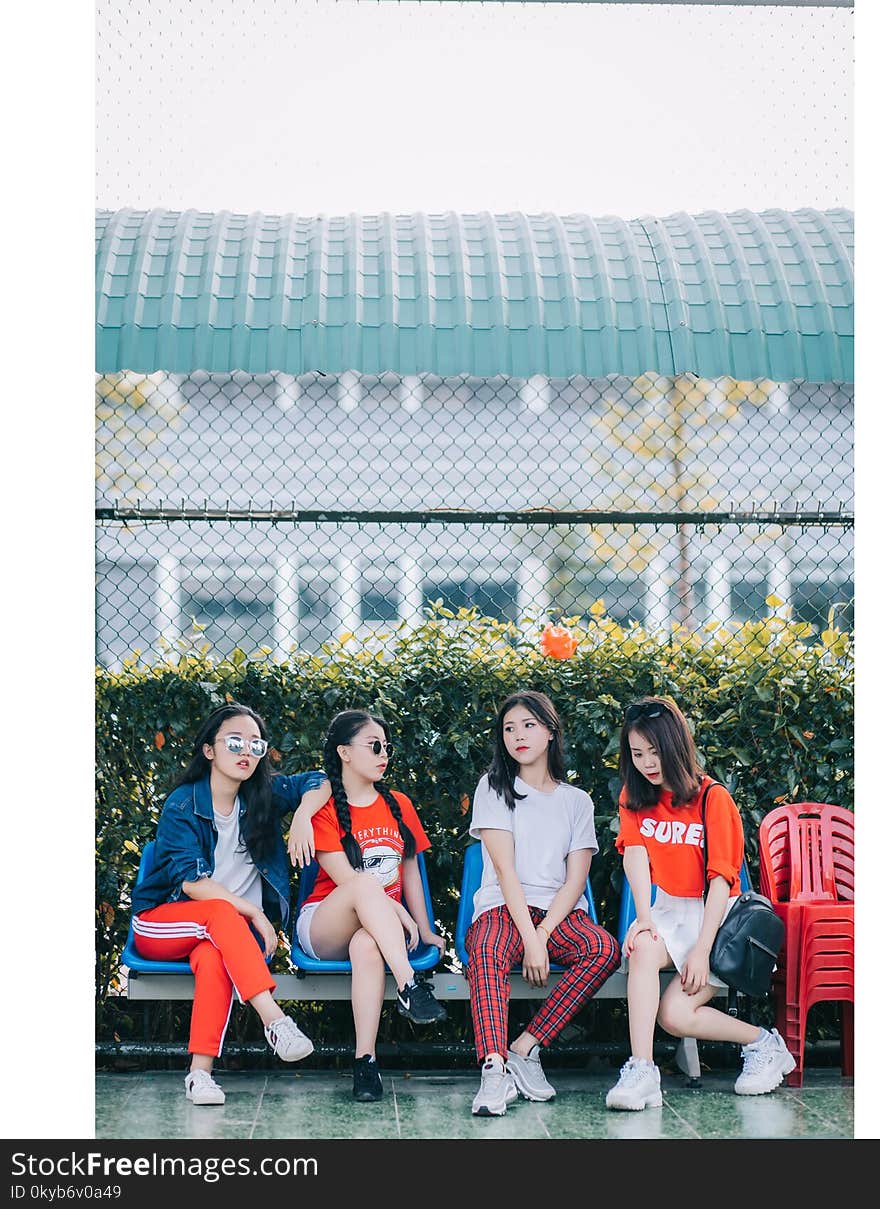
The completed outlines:
{"type": "Polygon", "coordinates": [[[795,1054],[789,1087],[804,1080],[810,1007],[840,1000],[841,1068],[852,1074],[855,829],[851,810],[795,802],[769,811],[758,829],[760,892],[786,925],[774,974],[776,1028],[795,1054]]]}

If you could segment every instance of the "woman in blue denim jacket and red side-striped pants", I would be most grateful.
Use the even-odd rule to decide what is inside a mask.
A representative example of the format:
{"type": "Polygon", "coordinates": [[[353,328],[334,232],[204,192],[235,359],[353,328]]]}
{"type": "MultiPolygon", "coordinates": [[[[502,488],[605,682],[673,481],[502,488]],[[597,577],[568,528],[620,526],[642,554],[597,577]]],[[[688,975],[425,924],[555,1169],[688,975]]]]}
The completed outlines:
{"type": "Polygon", "coordinates": [[[312,1042],[272,997],[268,960],[288,925],[289,866],[282,818],[303,803],[328,800],[323,773],[273,774],[266,725],[236,701],[215,710],[196,735],[192,758],[166,799],[152,870],[132,891],[134,943],[156,961],[189,959],[196,977],[186,1098],[222,1104],[213,1078],[232,1010],[250,1003],[266,1040],[284,1062],[312,1042]]]}

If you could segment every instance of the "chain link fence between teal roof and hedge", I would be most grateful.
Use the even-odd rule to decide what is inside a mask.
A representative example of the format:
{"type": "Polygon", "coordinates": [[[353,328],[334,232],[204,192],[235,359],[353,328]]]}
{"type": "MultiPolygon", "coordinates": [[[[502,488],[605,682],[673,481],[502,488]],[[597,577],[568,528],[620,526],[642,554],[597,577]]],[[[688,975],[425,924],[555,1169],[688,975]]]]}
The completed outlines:
{"type": "MultiPolygon", "coordinates": [[[[436,602],[853,626],[852,386],[346,374],[97,382],[97,660],[390,653],[436,602]]],[[[446,615],[446,614],[444,614],[446,615]]]]}

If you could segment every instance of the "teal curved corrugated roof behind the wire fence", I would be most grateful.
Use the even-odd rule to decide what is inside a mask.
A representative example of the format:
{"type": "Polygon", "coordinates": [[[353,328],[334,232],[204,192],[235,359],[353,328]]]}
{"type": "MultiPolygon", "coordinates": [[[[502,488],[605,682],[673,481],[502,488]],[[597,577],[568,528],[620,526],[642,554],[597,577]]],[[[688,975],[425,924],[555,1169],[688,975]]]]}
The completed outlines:
{"type": "Polygon", "coordinates": [[[98,210],[97,371],[853,378],[851,210],[98,210]]]}

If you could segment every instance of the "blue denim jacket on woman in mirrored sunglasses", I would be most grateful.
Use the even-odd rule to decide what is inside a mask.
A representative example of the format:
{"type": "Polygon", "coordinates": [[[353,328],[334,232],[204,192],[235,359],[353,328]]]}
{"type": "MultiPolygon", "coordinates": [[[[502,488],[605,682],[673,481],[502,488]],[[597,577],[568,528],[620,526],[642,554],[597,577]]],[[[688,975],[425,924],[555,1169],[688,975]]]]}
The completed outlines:
{"type": "MultiPolygon", "coordinates": [[[[324,773],[278,774],[272,777],[272,803],[278,811],[278,829],[272,851],[257,864],[262,875],[264,910],[270,918],[280,919],[286,929],[290,918],[290,857],[282,834],[282,818],[296,810],[302,794],[317,789],[326,780],[324,773]]],[[[245,812],[241,802],[239,818],[245,812]]],[[[181,885],[214,873],[214,804],[210,777],[173,789],[160,815],[156,829],[156,856],[151,872],[132,891],[132,914],[137,915],[160,903],[189,902],[181,885]]]]}

